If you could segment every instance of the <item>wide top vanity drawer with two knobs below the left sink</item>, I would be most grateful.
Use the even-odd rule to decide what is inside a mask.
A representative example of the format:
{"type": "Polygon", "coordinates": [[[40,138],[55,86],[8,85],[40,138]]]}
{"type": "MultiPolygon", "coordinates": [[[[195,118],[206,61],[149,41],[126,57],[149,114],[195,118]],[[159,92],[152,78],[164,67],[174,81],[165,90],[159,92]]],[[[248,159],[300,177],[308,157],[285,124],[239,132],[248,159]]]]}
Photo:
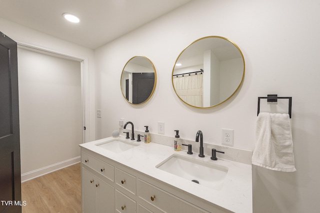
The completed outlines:
{"type": "Polygon", "coordinates": [[[113,182],[114,180],[114,167],[108,163],[100,161],[84,152],[81,153],[81,163],[87,165],[97,173],[103,175],[113,182]]]}

